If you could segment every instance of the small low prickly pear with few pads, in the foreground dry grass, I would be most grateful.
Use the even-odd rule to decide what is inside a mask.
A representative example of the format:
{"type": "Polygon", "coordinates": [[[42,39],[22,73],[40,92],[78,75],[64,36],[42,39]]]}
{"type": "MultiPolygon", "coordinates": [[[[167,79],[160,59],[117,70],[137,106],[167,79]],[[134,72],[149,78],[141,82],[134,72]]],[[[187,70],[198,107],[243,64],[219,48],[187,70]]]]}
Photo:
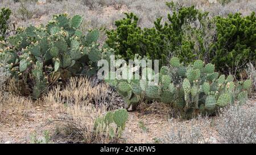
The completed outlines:
{"type": "Polygon", "coordinates": [[[108,132],[111,139],[120,137],[128,120],[128,112],[125,109],[109,111],[104,116],[98,117],[94,122],[97,132],[108,132]],[[114,124],[114,125],[113,125],[114,124]]]}

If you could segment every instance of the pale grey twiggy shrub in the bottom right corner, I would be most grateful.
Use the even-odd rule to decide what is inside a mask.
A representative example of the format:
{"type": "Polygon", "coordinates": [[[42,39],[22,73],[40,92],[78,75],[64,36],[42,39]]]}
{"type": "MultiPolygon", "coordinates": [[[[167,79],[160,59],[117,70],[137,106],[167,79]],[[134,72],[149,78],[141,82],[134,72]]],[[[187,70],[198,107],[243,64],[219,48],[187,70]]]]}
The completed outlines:
{"type": "Polygon", "coordinates": [[[255,104],[224,109],[218,119],[217,129],[222,143],[256,143],[255,104]]]}

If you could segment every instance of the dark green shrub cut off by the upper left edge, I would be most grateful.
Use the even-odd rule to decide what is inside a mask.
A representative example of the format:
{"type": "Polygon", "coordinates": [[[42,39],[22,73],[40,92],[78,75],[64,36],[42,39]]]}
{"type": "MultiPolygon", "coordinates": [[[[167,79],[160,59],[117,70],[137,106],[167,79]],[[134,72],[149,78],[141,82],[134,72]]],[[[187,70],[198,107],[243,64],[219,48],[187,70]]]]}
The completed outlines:
{"type": "Polygon", "coordinates": [[[11,15],[11,10],[2,8],[0,12],[0,41],[5,40],[6,32],[8,30],[8,22],[11,15]]]}

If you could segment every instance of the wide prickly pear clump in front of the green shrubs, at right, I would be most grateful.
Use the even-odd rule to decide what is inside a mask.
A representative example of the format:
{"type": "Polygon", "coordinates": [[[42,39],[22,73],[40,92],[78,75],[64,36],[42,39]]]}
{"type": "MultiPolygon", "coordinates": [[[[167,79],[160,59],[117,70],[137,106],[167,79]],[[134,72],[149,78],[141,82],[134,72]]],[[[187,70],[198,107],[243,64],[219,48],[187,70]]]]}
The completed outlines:
{"type": "MultiPolygon", "coordinates": [[[[142,69],[150,70],[148,68],[142,69]]],[[[158,100],[179,109],[183,116],[191,118],[197,114],[213,114],[219,107],[238,102],[244,103],[250,91],[251,80],[233,82],[232,75],[219,76],[213,64],[197,60],[184,66],[177,57],[172,57],[170,67],[163,66],[160,72],[152,73],[151,79],[113,79],[119,94],[127,103],[137,105],[140,100],[158,100]],[[152,83],[154,77],[158,83],[152,83]],[[151,85],[148,85],[151,83],[151,85]]]]}

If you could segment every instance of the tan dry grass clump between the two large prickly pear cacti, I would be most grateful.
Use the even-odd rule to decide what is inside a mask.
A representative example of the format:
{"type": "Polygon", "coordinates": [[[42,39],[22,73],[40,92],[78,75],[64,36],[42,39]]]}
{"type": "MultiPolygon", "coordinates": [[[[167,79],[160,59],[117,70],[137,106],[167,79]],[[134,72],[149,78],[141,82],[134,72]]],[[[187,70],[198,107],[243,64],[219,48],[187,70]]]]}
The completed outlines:
{"type": "Polygon", "coordinates": [[[87,78],[73,77],[64,89],[61,86],[56,86],[48,93],[45,100],[47,103],[64,103],[67,105],[93,104],[96,107],[104,105],[113,110],[122,106],[117,107],[117,96],[117,93],[105,83],[93,86],[87,78]]]}

